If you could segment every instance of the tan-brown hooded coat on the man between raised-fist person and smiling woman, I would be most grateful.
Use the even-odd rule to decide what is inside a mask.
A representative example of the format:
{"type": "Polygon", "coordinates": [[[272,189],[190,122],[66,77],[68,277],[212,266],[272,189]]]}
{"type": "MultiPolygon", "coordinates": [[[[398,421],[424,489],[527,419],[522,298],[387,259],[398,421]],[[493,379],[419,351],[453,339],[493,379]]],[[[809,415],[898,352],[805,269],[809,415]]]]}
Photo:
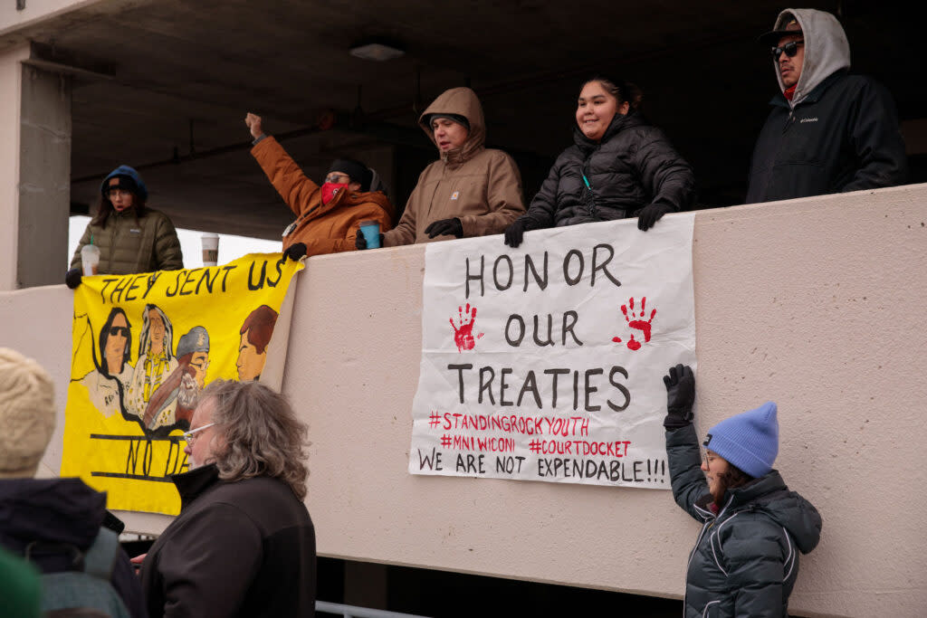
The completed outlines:
{"type": "Polygon", "coordinates": [[[502,233],[525,212],[521,174],[514,160],[483,145],[486,123],[476,93],[451,88],[425,109],[418,122],[432,142],[435,136],[428,117],[441,113],[464,116],[470,132],[463,146],[442,153],[418,177],[396,229],[383,235],[384,246],[450,240],[453,236],[428,238],[425,228],[453,217],[461,220],[464,237],[502,233]]]}

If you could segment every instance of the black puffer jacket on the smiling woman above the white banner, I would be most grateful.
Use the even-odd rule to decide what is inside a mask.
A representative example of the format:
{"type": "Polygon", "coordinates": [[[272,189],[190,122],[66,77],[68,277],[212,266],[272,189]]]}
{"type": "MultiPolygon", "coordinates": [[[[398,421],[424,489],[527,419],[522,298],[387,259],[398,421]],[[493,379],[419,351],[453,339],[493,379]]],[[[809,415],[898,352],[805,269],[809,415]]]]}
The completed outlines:
{"type": "Polygon", "coordinates": [[[599,143],[574,127],[573,141],[522,216],[527,230],[624,219],[654,203],[671,211],[692,203],[692,168],[640,114],[616,114],[599,143]]]}

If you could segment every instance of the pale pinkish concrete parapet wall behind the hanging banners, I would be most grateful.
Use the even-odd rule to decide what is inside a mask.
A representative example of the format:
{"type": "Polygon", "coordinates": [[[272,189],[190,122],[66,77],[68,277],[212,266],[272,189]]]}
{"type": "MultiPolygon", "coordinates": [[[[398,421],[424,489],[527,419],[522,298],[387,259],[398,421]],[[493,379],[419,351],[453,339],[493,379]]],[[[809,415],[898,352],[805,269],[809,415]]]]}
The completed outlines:
{"type": "MultiPolygon", "coordinates": [[[[793,613],[927,607],[925,224],[927,185],[696,217],[698,425],[775,399],[777,467],[824,519],[793,613]]],[[[310,423],[319,551],[681,596],[698,525],[666,491],[406,472],[424,254],[313,258],[300,275],[284,388],[310,423]]],[[[70,292],[0,294],[0,324],[0,343],[37,358],[64,392],[70,292]]],[[[60,429],[56,440],[51,469],[60,429]]]]}

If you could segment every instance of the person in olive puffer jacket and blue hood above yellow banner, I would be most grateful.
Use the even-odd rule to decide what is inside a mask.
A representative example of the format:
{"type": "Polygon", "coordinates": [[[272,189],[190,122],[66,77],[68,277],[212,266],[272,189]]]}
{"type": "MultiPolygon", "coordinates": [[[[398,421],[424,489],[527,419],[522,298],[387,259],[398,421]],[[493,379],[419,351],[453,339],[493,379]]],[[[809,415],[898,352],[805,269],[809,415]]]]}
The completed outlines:
{"type": "Polygon", "coordinates": [[[93,242],[100,250],[97,274],[177,271],[184,254],[173,223],[163,212],[146,207],[148,189],[128,165],[112,170],[100,184],[100,208],[87,224],[65,276],[68,287],[81,284],[81,249],[93,242]]]}

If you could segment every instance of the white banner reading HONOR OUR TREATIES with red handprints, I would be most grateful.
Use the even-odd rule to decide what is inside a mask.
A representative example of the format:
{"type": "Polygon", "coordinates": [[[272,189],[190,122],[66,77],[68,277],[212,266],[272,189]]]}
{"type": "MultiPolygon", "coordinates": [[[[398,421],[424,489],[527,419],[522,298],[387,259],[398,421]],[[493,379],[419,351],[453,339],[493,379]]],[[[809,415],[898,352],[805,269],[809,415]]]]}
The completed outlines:
{"type": "Polygon", "coordinates": [[[428,245],[409,472],[669,489],[663,376],[695,365],[693,219],[428,245]]]}

